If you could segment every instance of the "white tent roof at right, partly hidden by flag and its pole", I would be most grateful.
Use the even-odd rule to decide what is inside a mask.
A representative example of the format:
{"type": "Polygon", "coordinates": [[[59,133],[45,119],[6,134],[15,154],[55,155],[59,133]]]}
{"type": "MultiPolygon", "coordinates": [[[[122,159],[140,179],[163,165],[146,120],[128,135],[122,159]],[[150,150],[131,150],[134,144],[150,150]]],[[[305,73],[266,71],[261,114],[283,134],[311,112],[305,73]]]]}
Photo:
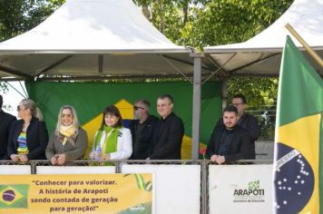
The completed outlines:
{"type": "MultiPolygon", "coordinates": [[[[295,0],[274,24],[247,42],[205,47],[204,52],[231,75],[278,75],[281,53],[289,34],[286,24],[290,24],[323,57],[322,11],[323,0],[295,0]]],[[[304,51],[296,40],[294,43],[304,51]]],[[[322,68],[311,57],[308,56],[308,60],[323,74],[322,68]]]]}

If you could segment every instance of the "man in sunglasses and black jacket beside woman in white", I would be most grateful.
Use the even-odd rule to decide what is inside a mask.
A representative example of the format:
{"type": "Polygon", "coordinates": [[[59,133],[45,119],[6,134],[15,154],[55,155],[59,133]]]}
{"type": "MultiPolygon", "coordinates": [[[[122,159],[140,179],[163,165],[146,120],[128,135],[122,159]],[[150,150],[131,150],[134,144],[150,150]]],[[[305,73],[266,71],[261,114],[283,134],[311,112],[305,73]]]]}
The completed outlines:
{"type": "Polygon", "coordinates": [[[137,101],[133,105],[134,120],[130,123],[132,131],[131,160],[145,160],[152,151],[152,134],[158,119],[149,114],[151,103],[146,100],[137,101]]]}

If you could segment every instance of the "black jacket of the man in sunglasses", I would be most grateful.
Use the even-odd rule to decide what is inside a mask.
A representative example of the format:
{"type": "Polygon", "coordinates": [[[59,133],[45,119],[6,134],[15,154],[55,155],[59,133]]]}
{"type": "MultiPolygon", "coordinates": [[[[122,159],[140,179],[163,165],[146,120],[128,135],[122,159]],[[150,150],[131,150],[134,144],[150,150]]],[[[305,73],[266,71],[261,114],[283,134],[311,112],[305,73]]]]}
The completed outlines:
{"type": "Polygon", "coordinates": [[[142,123],[142,131],[137,133],[139,120],[132,120],[129,129],[132,131],[132,157],[131,160],[145,160],[152,151],[153,130],[158,119],[149,115],[142,123]],[[138,140],[138,141],[137,141],[138,140]],[[136,144],[136,142],[138,142],[136,144]]]}

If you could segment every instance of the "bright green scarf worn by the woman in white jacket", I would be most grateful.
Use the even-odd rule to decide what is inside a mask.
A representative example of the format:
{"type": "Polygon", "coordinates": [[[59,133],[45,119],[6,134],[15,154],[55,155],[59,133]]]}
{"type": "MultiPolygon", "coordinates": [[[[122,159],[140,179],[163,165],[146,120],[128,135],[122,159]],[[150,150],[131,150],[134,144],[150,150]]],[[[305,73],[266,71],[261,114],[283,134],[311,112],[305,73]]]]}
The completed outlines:
{"type": "MultiPolygon", "coordinates": [[[[103,154],[117,151],[118,136],[119,136],[119,131],[121,129],[122,127],[113,128],[106,125],[103,126],[103,131],[105,131],[105,139],[104,139],[103,148],[101,151],[103,154]]],[[[96,134],[95,141],[94,141],[95,150],[98,147],[100,147],[100,141],[101,141],[103,131],[99,130],[99,132],[96,134]]]]}

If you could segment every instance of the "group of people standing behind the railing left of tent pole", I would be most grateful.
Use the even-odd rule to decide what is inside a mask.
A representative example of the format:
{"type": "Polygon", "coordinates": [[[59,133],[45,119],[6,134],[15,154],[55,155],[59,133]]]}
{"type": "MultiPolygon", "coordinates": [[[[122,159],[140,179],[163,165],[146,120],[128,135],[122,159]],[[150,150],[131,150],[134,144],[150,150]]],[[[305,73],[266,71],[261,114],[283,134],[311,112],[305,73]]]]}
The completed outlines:
{"type": "Polygon", "coordinates": [[[149,114],[150,102],[141,100],[133,105],[135,120],[129,129],[123,127],[122,115],[113,105],[103,110],[103,121],[95,132],[89,157],[83,157],[88,147],[86,131],[80,126],[73,106],[64,105],[56,128],[48,136],[42,112],[34,101],[24,99],[17,106],[20,120],[2,111],[0,95],[1,150],[0,160],[50,160],[64,165],[71,160],[181,160],[183,122],[173,109],[169,94],[157,100],[161,119],[149,114]]]}

